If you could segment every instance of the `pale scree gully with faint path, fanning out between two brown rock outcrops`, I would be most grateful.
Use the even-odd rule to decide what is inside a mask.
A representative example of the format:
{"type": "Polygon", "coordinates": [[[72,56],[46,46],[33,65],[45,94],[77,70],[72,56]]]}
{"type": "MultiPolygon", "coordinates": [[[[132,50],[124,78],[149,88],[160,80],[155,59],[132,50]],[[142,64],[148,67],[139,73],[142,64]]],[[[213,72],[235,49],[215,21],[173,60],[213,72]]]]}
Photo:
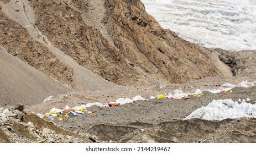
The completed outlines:
{"type": "Polygon", "coordinates": [[[48,38],[41,34],[34,24],[35,15],[33,9],[29,6],[27,0],[9,2],[8,5],[0,2],[4,14],[6,14],[10,19],[16,21],[22,25],[29,34],[38,42],[43,43],[51,52],[59,58],[61,63],[69,65],[75,70],[72,76],[72,87],[77,91],[85,90],[104,90],[107,88],[113,89],[117,87],[116,85],[109,83],[107,80],[102,79],[100,76],[92,73],[90,70],[82,67],[76,63],[72,58],[61,52],[58,48],[51,45],[48,38]],[[13,8],[19,8],[19,11],[15,11],[13,8]]]}

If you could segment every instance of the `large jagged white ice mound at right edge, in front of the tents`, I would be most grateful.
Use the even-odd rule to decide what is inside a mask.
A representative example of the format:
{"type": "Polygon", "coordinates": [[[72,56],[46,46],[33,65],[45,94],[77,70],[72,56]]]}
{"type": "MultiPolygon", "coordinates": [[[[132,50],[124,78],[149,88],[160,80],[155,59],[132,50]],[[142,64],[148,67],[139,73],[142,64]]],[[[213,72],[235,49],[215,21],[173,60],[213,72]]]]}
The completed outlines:
{"type": "Polygon", "coordinates": [[[223,120],[242,117],[256,118],[256,105],[247,102],[239,104],[231,99],[227,99],[213,100],[206,107],[196,109],[185,119],[223,120]]]}

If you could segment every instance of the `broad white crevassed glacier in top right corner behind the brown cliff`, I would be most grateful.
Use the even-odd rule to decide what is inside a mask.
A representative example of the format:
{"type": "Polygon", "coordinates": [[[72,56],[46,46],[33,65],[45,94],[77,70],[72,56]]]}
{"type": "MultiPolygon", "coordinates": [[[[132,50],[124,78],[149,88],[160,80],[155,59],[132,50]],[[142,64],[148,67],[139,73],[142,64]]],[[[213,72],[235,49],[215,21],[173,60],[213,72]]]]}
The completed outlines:
{"type": "Polygon", "coordinates": [[[256,50],[255,0],[142,0],[162,27],[207,48],[256,50]]]}

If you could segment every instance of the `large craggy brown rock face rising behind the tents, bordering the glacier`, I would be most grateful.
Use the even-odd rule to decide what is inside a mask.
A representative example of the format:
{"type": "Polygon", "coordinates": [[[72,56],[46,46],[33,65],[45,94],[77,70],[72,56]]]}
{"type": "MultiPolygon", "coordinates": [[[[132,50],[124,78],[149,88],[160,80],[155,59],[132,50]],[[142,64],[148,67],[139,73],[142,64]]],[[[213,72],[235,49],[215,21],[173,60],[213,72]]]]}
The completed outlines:
{"type": "Polygon", "coordinates": [[[54,46],[113,83],[180,83],[217,75],[199,47],[162,29],[140,1],[32,0],[30,5],[35,25],[54,46]]]}

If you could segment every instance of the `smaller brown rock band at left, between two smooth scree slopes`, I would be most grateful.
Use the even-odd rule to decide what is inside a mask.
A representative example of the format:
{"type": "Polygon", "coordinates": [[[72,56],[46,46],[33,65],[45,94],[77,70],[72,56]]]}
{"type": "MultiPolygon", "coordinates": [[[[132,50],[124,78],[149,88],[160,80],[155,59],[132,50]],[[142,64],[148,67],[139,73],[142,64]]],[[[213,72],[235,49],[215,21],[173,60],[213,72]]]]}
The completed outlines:
{"type": "Polygon", "coordinates": [[[0,46],[51,78],[71,85],[72,68],[60,63],[48,48],[30,37],[21,25],[8,19],[1,10],[0,46]]]}

